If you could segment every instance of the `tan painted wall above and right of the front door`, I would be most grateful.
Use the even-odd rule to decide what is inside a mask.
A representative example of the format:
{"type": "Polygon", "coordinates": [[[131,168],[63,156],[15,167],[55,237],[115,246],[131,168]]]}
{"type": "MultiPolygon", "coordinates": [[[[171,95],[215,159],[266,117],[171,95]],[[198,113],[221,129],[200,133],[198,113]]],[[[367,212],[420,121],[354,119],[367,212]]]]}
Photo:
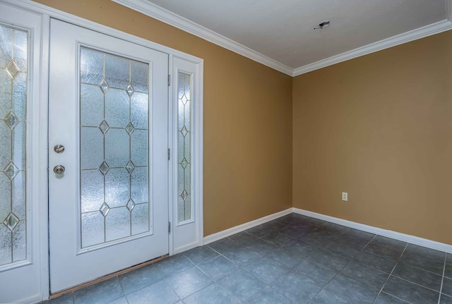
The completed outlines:
{"type": "Polygon", "coordinates": [[[292,207],[290,76],[108,0],[37,0],[204,59],[204,235],[292,207]]]}

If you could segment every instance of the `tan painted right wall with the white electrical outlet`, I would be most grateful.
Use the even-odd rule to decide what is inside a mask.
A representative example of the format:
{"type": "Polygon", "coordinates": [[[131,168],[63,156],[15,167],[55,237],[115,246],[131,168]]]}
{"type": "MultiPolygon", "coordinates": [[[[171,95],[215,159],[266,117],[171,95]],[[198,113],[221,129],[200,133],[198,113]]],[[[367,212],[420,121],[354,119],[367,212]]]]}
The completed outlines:
{"type": "Polygon", "coordinates": [[[450,31],[294,78],[294,207],[452,244],[451,54],[450,31]]]}

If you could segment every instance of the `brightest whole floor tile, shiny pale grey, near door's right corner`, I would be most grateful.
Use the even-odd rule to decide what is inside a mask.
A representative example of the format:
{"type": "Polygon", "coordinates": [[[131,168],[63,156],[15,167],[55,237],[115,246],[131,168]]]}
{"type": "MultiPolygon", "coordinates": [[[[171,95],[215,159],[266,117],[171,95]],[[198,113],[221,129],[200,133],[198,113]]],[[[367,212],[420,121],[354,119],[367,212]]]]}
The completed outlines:
{"type": "Polygon", "coordinates": [[[165,281],[182,299],[213,283],[209,276],[196,267],[168,276],[165,281]]]}

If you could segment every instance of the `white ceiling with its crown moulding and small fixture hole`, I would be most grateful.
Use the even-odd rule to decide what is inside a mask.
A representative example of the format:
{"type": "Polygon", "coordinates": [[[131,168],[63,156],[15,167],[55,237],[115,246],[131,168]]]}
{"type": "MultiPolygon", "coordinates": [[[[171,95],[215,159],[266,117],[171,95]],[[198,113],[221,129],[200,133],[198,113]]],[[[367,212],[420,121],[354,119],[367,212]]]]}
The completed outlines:
{"type": "MultiPolygon", "coordinates": [[[[205,28],[212,31],[208,31],[208,36],[213,40],[215,35],[223,44],[224,37],[231,39],[230,49],[251,49],[245,52],[261,55],[292,71],[328,59],[331,61],[335,56],[350,54],[350,51],[369,49],[369,44],[375,42],[391,42],[386,46],[376,45],[376,49],[383,49],[452,27],[448,21],[451,0],[114,1],[134,6],[138,11],[155,10],[160,6],[167,10],[162,10],[167,17],[172,13],[183,17],[180,18],[183,26],[179,28],[189,31],[192,28],[195,35],[196,28],[198,32],[205,28]],[[137,5],[146,1],[151,6],[137,5]],[[328,28],[314,30],[325,20],[331,21],[328,28]],[[396,39],[391,40],[394,36],[396,39]]],[[[364,54],[370,51],[364,51],[364,54]]]]}

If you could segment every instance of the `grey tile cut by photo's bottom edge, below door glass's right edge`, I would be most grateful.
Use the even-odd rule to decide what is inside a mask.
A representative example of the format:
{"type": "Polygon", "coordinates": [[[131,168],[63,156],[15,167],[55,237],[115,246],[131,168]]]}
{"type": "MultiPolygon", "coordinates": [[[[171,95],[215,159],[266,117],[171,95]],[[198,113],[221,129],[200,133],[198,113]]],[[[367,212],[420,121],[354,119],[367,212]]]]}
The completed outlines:
{"type": "Polygon", "coordinates": [[[126,298],[129,304],[173,304],[180,300],[165,281],[158,281],[155,284],[129,293],[126,298]]]}

